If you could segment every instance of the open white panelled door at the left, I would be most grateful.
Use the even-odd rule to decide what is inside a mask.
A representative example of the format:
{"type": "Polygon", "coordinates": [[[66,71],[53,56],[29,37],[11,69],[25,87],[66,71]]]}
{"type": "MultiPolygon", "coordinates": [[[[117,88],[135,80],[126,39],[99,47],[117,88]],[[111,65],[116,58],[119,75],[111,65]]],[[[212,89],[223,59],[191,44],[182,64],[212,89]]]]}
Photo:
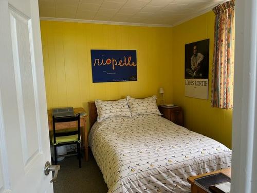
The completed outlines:
{"type": "Polygon", "coordinates": [[[0,192],[53,192],[36,0],[0,0],[0,192]]]}

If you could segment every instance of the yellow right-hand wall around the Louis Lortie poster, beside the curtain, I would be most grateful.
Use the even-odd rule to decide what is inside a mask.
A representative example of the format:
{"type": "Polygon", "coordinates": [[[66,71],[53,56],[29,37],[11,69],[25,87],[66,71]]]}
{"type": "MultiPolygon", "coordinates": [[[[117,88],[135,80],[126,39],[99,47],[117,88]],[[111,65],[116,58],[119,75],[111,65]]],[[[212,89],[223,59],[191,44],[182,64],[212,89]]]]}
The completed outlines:
{"type": "Polygon", "coordinates": [[[232,110],[212,108],[211,70],[213,57],[214,13],[208,12],[172,29],[173,102],[184,109],[186,128],[209,136],[231,148],[232,110]],[[185,97],[185,44],[210,39],[209,100],[185,97]]]}

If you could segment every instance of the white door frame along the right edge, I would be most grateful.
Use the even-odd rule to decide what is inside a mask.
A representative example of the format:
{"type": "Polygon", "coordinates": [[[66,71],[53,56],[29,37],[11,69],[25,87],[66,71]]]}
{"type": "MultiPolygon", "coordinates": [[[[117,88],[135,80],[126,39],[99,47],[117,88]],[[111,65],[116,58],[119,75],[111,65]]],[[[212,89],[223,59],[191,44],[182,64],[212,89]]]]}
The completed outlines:
{"type": "Polygon", "coordinates": [[[236,1],[231,181],[233,193],[257,191],[256,12],[256,0],[236,1]]]}

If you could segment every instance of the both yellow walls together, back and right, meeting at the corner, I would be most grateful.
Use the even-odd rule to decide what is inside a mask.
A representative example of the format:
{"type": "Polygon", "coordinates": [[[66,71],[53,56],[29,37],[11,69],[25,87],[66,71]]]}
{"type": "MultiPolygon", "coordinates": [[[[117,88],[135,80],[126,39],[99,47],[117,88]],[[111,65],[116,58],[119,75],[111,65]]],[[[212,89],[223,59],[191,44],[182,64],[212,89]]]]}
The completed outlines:
{"type": "MultiPolygon", "coordinates": [[[[181,106],[185,126],[231,148],[232,110],[210,107],[214,14],[173,28],[41,21],[48,109],[95,99],[158,95],[181,106]],[[209,100],[185,97],[185,44],[210,39],[209,100]],[[93,83],[90,49],[136,49],[138,81],[93,83]]],[[[159,102],[159,99],[158,99],[159,102]]]]}

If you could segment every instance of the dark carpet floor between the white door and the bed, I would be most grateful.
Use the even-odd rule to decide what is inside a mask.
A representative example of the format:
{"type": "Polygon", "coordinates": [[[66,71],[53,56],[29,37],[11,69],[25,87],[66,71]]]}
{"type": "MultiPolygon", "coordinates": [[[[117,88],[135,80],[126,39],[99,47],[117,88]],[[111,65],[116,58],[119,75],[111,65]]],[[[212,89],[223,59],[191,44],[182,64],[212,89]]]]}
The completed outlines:
{"type": "Polygon", "coordinates": [[[103,180],[94,156],[89,151],[88,162],[81,159],[81,168],[77,156],[67,157],[58,162],[61,166],[57,182],[53,184],[54,193],[106,193],[108,188],[103,180]]]}

